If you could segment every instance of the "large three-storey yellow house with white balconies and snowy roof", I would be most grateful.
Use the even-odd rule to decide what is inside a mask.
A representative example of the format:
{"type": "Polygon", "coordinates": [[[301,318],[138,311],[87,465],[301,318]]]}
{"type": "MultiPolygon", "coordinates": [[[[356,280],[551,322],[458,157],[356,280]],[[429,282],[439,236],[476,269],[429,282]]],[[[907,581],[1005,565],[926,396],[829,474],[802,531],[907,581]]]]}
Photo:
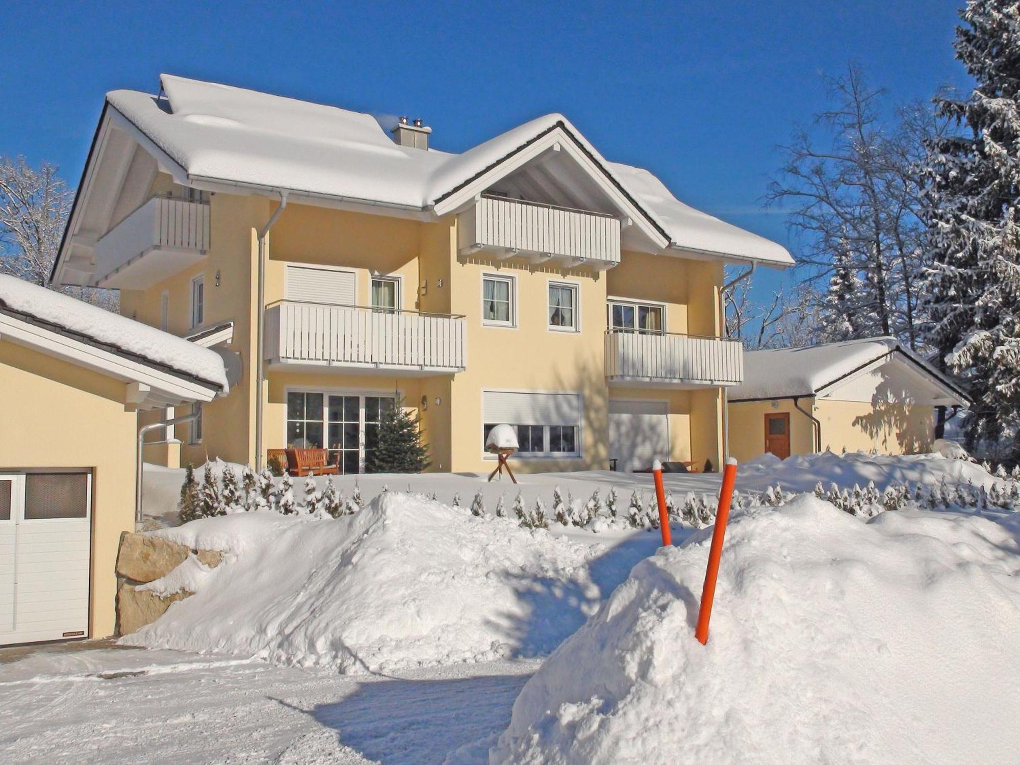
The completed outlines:
{"type": "Polygon", "coordinates": [[[399,397],[432,470],[491,469],[497,423],[524,472],[718,465],[743,379],[723,266],[788,253],[559,114],[461,154],[431,142],[420,120],[177,76],[107,95],[53,279],[119,290],[240,374],[148,458],[258,465],[296,444],[357,472],[399,397]]]}

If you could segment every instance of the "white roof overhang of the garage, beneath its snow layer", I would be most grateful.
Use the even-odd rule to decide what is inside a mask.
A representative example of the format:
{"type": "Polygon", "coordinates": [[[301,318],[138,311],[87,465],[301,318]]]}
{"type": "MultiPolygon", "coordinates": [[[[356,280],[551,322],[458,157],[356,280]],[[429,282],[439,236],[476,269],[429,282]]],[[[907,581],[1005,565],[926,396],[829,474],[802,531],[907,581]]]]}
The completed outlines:
{"type": "Polygon", "coordinates": [[[0,311],[0,338],[123,381],[128,407],[153,409],[212,401],[220,393],[219,387],[205,380],[71,337],[36,319],[30,322],[30,318],[0,311]]]}

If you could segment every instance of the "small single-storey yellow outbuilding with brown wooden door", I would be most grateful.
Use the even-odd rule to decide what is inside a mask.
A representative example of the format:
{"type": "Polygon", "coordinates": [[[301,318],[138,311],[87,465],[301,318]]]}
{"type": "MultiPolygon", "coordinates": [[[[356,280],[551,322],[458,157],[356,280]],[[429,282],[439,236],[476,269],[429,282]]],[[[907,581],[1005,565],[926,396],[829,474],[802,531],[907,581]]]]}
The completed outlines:
{"type": "Polygon", "coordinates": [[[744,368],[727,404],[730,453],[740,461],[826,449],[929,452],[936,407],[969,403],[896,338],[751,351],[744,368]]]}

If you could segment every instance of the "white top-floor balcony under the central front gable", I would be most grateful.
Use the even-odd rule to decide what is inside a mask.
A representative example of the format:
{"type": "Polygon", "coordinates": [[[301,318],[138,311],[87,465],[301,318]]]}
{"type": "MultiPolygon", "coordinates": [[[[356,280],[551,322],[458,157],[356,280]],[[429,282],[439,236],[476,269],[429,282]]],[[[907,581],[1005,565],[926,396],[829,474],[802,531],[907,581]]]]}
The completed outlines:
{"type": "Polygon", "coordinates": [[[620,262],[620,221],[600,212],[482,195],[460,214],[458,249],[605,270],[620,262]]]}

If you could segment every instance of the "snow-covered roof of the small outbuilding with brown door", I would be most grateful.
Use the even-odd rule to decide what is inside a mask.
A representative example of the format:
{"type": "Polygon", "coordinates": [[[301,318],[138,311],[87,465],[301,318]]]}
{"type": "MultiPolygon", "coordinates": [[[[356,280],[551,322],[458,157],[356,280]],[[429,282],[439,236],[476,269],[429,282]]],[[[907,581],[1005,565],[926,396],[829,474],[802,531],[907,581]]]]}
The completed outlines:
{"type": "Polygon", "coordinates": [[[813,396],[853,372],[894,354],[909,359],[929,377],[966,399],[941,372],[905,348],[896,338],[867,338],[801,348],[747,351],[744,382],[728,391],[729,401],[813,396]]]}

